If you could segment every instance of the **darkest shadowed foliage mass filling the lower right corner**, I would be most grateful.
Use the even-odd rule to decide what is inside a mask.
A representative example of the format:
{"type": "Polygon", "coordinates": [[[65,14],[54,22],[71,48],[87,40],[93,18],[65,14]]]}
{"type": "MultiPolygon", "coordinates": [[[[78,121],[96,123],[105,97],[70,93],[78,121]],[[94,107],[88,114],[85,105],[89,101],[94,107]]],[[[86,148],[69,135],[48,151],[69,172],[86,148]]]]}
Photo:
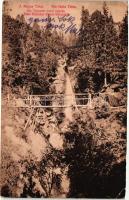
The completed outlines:
{"type": "MultiPolygon", "coordinates": [[[[115,164],[111,142],[96,143],[95,138],[99,132],[93,125],[90,126],[92,121],[89,120],[88,125],[84,119],[76,119],[76,123],[65,133],[65,156],[70,178],[68,197],[115,198],[125,185],[125,163],[115,164]],[[119,174],[122,174],[120,179],[119,174]],[[118,185],[116,179],[119,179],[118,185]],[[112,188],[113,185],[115,189],[112,188]]],[[[97,141],[99,140],[100,138],[97,141]]],[[[120,197],[124,196],[123,193],[121,195],[120,197]]]]}

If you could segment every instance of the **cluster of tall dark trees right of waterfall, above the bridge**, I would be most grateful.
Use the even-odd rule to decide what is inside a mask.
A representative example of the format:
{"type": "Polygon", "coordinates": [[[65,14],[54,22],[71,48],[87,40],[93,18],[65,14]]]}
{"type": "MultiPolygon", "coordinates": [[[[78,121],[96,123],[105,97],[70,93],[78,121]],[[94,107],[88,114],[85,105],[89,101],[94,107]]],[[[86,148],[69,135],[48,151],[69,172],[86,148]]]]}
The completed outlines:
{"type": "Polygon", "coordinates": [[[96,10],[91,15],[87,9],[82,8],[80,34],[76,44],[77,47],[79,46],[79,54],[74,53],[74,50],[73,53],[69,54],[70,58],[73,54],[72,58],[74,61],[71,65],[80,61],[75,66],[75,71],[80,72],[76,79],[76,85],[78,85],[76,87],[79,91],[85,92],[86,88],[93,89],[94,92],[101,91],[104,86],[105,77],[107,84],[112,84],[113,82],[119,85],[126,84],[127,13],[123,22],[119,25],[119,29],[116,26],[118,24],[114,22],[112,15],[109,15],[109,9],[106,3],[103,4],[103,12],[96,10]],[[83,56],[86,57],[85,61],[83,60],[83,56]],[[89,73],[87,73],[88,70],[89,73]],[[95,78],[95,70],[103,74],[102,79],[101,77],[95,78]],[[86,72],[85,75],[83,71],[86,72]],[[96,81],[98,79],[99,83],[97,84],[96,81]],[[87,83],[87,80],[89,83],[87,83]]]}

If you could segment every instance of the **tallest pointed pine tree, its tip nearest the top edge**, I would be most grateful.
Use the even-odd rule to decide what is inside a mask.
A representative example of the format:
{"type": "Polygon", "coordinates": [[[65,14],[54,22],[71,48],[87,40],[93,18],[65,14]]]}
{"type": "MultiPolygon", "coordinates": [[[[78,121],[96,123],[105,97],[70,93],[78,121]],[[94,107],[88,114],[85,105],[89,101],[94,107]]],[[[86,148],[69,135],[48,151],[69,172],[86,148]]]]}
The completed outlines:
{"type": "Polygon", "coordinates": [[[113,17],[111,14],[109,15],[106,3],[103,5],[103,13],[99,14],[99,17],[96,14],[95,23],[93,24],[93,27],[97,27],[95,37],[99,38],[99,43],[95,48],[96,65],[101,66],[106,74],[114,67],[113,61],[116,60],[117,52],[116,41],[118,41],[113,17]]]}

